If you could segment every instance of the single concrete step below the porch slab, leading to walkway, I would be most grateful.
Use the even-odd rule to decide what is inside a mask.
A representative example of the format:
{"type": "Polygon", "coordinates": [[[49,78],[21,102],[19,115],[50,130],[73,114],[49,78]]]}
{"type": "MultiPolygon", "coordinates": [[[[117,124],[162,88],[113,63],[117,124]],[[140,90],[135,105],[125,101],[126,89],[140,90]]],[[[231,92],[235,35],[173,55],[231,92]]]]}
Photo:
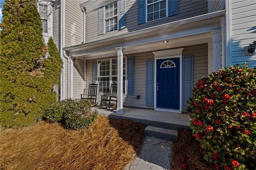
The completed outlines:
{"type": "Polygon", "coordinates": [[[178,130],[169,128],[160,128],[155,126],[147,126],[144,130],[146,136],[175,141],[178,136],[178,130]]]}

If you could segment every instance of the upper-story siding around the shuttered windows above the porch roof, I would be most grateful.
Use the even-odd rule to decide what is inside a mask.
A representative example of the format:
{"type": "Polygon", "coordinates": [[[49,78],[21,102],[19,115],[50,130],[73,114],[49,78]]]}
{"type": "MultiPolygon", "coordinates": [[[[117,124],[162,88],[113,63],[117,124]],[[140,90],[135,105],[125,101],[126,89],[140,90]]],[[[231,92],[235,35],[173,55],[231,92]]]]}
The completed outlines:
{"type": "Polygon", "coordinates": [[[207,14],[206,0],[179,0],[178,14],[145,24],[137,23],[137,1],[126,0],[126,28],[98,36],[98,9],[86,13],[86,42],[93,42],[128,32],[207,14]]]}

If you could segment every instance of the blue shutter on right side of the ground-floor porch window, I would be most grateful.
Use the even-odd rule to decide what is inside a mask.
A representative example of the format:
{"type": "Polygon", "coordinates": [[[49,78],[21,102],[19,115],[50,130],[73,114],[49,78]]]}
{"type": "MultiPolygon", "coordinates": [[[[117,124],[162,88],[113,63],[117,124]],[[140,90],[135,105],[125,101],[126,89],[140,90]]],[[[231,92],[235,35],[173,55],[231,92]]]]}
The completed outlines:
{"type": "Polygon", "coordinates": [[[127,57],[127,95],[134,95],[134,57],[127,57]]]}

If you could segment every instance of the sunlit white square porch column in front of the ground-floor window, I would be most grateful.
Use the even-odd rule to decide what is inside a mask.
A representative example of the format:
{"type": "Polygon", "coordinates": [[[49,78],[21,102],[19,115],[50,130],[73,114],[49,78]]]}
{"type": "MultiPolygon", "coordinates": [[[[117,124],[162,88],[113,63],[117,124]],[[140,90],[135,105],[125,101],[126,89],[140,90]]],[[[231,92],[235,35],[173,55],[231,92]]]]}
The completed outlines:
{"type": "Polygon", "coordinates": [[[116,113],[123,114],[123,47],[116,47],[117,50],[117,106],[116,113]]]}

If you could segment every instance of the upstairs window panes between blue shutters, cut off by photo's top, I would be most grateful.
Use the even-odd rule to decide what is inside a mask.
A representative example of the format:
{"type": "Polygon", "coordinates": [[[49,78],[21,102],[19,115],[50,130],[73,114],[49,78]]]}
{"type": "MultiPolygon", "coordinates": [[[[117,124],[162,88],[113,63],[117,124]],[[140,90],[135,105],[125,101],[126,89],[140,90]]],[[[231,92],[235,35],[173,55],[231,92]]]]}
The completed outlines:
{"type": "Polygon", "coordinates": [[[166,0],[147,0],[147,21],[165,18],[166,0]]]}

